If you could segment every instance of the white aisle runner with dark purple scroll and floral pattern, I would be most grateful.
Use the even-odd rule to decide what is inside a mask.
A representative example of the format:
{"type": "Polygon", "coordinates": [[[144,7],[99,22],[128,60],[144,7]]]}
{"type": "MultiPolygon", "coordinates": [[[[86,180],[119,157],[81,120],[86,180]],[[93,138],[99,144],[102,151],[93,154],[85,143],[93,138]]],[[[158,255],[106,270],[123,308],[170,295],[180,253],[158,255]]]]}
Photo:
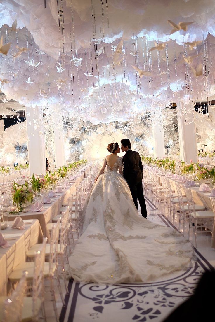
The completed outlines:
{"type": "MultiPolygon", "coordinates": [[[[160,214],[148,215],[148,219],[171,226],[160,214]]],[[[201,273],[212,269],[197,250],[195,254],[197,260],[192,268],[155,283],[99,286],[70,281],[70,296],[66,298],[67,305],[62,309],[60,322],[163,321],[193,293],[201,273]]]]}

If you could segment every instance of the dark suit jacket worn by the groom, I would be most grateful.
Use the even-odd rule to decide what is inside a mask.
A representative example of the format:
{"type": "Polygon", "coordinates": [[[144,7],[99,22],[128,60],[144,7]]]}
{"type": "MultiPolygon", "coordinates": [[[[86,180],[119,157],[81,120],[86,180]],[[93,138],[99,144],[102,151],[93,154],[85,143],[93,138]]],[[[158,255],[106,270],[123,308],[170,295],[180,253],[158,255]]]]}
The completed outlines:
{"type": "Polygon", "coordinates": [[[123,176],[128,185],[142,182],[142,161],[138,152],[128,150],[123,156],[123,176]]]}

